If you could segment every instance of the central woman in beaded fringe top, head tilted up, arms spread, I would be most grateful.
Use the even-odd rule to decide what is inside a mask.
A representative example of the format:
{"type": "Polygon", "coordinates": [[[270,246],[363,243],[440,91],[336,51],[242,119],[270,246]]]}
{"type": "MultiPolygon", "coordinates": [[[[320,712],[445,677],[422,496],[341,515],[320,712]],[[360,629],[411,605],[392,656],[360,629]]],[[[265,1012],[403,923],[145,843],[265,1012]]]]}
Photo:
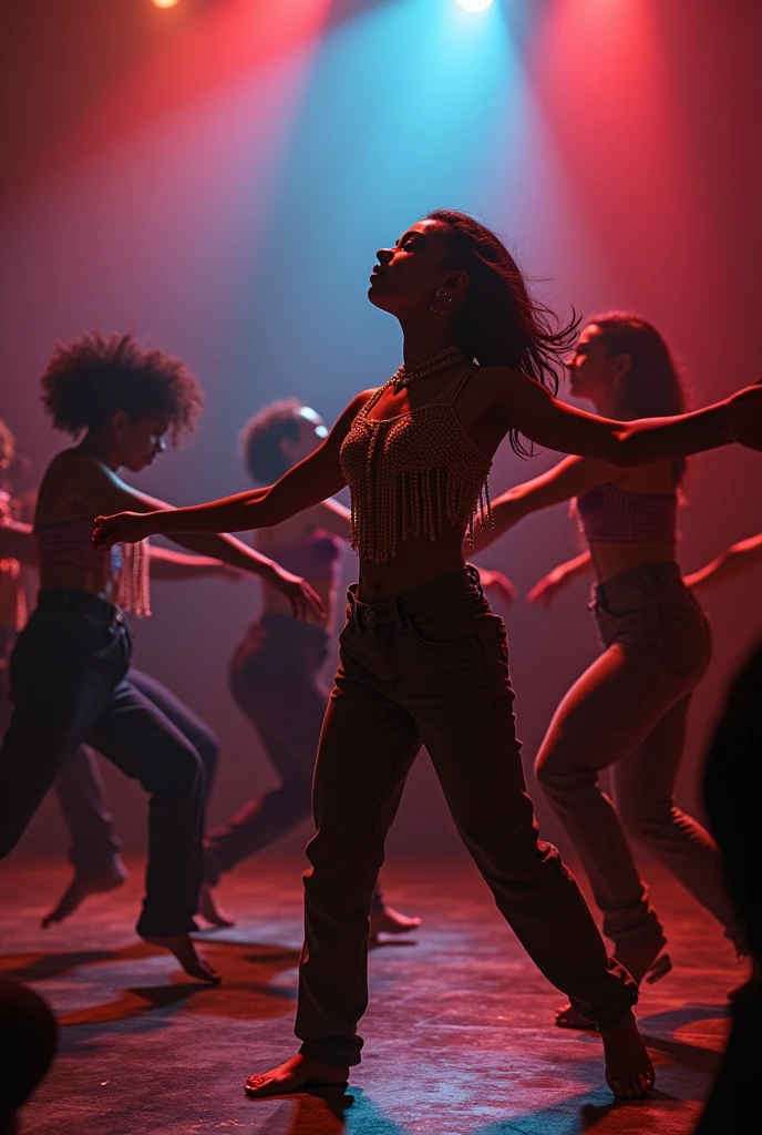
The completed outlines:
{"type": "Polygon", "coordinates": [[[762,388],[700,413],[607,421],[557,402],[556,329],[500,241],[471,217],[430,213],[378,253],[369,297],[403,329],[405,363],[347,406],[329,437],[263,496],[101,519],[99,546],[151,532],[283,523],[352,490],[359,582],[323,723],[307,855],[300,1052],[252,1096],[344,1084],[359,1062],[367,1003],[371,896],[410,765],[431,756],[458,830],[497,905],[543,974],[601,1029],[620,1098],[653,1084],[635,1025],[637,989],[607,956],[558,851],[539,840],[514,728],[502,620],[462,545],[491,459],[508,434],[621,465],[670,460],[731,439],[762,446],[762,388]],[[477,360],[479,364],[472,360],[477,360]]]}

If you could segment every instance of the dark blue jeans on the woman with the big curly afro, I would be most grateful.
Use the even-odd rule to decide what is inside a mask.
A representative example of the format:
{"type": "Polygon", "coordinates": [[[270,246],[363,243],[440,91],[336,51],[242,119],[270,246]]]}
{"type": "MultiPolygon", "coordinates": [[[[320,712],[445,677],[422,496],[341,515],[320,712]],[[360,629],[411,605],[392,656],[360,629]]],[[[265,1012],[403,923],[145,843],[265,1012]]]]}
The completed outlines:
{"type": "Polygon", "coordinates": [[[92,745],[151,794],[146,896],[138,934],[194,930],[204,773],[196,749],[126,680],[122,614],[88,591],[46,588],[10,663],[10,724],[0,747],[0,857],[16,846],[67,760],[92,745]]]}

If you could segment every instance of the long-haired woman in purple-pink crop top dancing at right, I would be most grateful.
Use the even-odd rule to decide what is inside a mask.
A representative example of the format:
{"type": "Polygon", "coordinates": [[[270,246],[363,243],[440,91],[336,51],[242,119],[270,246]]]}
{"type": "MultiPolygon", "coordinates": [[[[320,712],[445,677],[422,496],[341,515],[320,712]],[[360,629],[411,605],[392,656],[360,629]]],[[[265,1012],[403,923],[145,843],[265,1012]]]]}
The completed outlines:
{"type": "MultiPolygon", "coordinates": [[[[567,363],[570,390],[599,414],[629,421],[680,414],[684,393],[669,348],[644,319],[596,316],[567,363]]],[[[530,592],[548,604],[570,579],[595,573],[592,609],[603,654],[559,705],[535,764],[537,780],[572,839],[603,914],[613,955],[636,982],[671,968],[663,925],[649,900],[627,836],[661,863],[744,952],[709,832],[674,799],[691,697],[711,655],[706,617],[675,562],[678,493],[685,461],[623,470],[569,457],[518,485],[492,508],[485,545],[522,516],[576,498],[587,550],[530,592]],[[615,804],[598,783],[611,767],[615,804]]],[[[556,1023],[590,1028],[572,1004],[556,1023]]]]}

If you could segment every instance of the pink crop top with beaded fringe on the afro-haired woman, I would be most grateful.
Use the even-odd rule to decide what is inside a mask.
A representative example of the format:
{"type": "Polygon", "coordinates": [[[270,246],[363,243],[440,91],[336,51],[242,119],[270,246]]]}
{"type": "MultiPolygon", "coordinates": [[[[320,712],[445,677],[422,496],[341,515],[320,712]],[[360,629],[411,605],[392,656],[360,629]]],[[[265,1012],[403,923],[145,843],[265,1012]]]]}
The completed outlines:
{"type": "Polygon", "coordinates": [[[93,547],[94,523],[90,516],[79,516],[77,520],[35,524],[40,566],[67,563],[85,571],[99,572],[104,588],[116,575],[109,602],[135,615],[150,615],[149,541],[117,544],[112,548],[96,550],[93,547]]]}

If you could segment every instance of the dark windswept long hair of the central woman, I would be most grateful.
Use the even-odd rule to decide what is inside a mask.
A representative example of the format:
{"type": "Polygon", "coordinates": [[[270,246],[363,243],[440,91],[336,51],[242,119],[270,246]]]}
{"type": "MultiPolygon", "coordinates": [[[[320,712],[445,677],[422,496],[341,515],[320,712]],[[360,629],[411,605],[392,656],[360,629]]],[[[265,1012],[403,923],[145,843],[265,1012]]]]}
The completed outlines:
{"type": "MultiPolygon", "coordinates": [[[[444,267],[468,274],[468,291],[455,317],[456,344],[482,367],[520,370],[556,394],[579,326],[574,311],[565,323],[532,296],[502,241],[468,213],[434,209],[426,219],[442,227],[444,267]]],[[[517,430],[508,436],[515,453],[532,453],[517,430]]]]}

